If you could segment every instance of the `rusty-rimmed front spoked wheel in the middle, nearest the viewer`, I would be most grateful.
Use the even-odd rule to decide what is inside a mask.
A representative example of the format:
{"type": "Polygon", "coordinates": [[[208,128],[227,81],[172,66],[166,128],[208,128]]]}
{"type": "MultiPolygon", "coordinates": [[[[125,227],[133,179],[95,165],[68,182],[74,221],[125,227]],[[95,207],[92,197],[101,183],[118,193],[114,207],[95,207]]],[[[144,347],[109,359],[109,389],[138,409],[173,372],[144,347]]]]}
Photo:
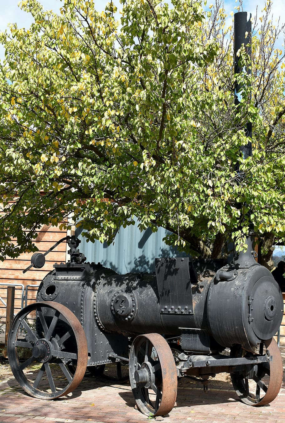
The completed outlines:
{"type": "Polygon", "coordinates": [[[129,356],[129,377],[142,413],[163,416],[173,409],[177,371],[170,346],[161,335],[149,333],[134,339],[129,356]]]}

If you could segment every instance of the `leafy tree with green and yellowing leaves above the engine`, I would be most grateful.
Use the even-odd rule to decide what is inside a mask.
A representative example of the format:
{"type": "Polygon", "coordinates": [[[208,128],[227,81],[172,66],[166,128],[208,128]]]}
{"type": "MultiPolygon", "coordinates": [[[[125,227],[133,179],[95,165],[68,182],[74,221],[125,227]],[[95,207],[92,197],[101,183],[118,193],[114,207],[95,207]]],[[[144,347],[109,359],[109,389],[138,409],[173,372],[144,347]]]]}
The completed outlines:
{"type": "Polygon", "coordinates": [[[2,254],[35,250],[40,225],[70,214],[90,240],[112,241],[137,216],[213,258],[229,239],[243,248],[250,220],[271,245],[285,237],[284,54],[270,1],[252,77],[233,75],[219,3],[208,14],[196,0],[122,6],[120,24],[113,3],[99,13],[93,0],[65,0],[58,16],[25,0],[34,23],[1,36],[2,254]],[[247,121],[254,149],[243,160],[247,121]]]}

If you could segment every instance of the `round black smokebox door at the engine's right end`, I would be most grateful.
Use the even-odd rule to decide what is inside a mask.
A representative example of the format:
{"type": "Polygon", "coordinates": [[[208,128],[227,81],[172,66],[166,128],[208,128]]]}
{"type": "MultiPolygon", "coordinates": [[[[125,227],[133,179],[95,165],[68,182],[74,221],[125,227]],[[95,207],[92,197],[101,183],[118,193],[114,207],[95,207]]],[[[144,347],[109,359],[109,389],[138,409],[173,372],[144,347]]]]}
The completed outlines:
{"type": "Polygon", "coordinates": [[[282,293],[273,277],[263,276],[255,283],[248,307],[248,321],[255,335],[261,340],[272,338],[283,316],[282,293]]]}

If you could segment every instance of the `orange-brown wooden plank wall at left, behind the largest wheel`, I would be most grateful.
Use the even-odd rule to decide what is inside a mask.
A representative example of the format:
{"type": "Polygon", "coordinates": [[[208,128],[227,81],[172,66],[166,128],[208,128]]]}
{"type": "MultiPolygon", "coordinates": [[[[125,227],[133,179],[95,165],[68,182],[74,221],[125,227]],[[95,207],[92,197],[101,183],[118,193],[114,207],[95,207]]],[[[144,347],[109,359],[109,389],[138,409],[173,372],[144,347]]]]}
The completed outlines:
{"type": "MultiPolygon", "coordinates": [[[[38,238],[36,239],[36,246],[40,253],[45,253],[50,247],[52,247],[61,238],[66,236],[66,230],[60,231],[59,228],[51,226],[43,226],[39,231],[38,238]]],[[[25,274],[23,270],[30,265],[30,258],[33,253],[24,253],[19,255],[16,259],[6,258],[5,261],[0,261],[0,283],[5,284],[22,284],[25,287],[27,285],[39,285],[41,280],[53,269],[55,263],[66,261],[66,242],[59,244],[55,250],[50,252],[46,256],[46,263],[41,269],[30,269],[25,274]]],[[[29,288],[28,291],[28,304],[33,302],[36,298],[37,288],[29,288]]],[[[7,302],[7,287],[0,285],[0,297],[7,302]]],[[[15,314],[21,308],[22,289],[16,287],[15,290],[15,314]]],[[[5,323],[6,308],[0,301],[0,324],[5,323]]],[[[5,327],[2,329],[5,330],[5,327]]],[[[3,338],[3,334],[0,335],[3,338]]],[[[0,339],[1,343],[2,339],[0,339]]]]}

